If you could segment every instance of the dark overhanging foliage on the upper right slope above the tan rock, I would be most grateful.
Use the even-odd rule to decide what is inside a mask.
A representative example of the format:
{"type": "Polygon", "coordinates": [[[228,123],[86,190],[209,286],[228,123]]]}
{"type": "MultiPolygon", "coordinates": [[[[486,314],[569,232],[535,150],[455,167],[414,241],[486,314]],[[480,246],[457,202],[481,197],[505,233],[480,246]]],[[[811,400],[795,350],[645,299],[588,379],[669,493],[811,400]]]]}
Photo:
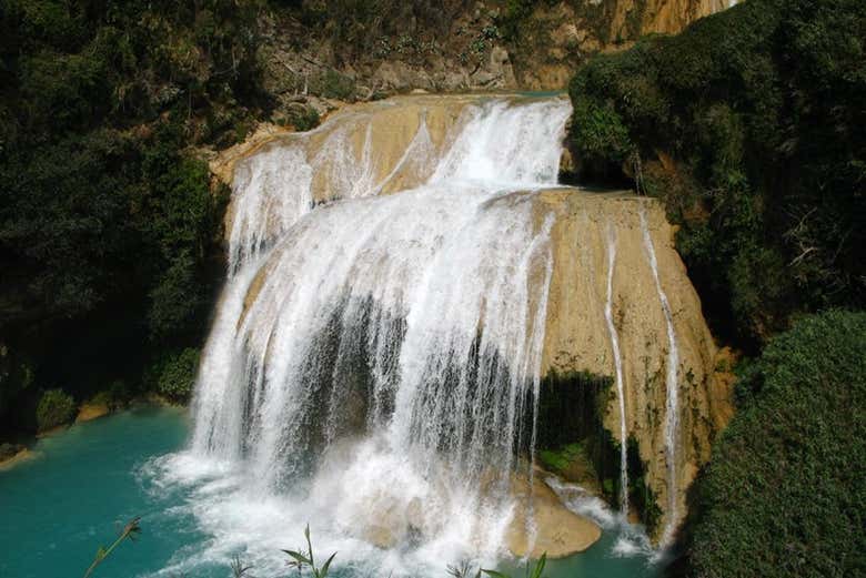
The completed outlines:
{"type": "Polygon", "coordinates": [[[723,337],[866,300],[866,3],[749,0],[581,68],[584,180],[664,197],[723,337]]]}

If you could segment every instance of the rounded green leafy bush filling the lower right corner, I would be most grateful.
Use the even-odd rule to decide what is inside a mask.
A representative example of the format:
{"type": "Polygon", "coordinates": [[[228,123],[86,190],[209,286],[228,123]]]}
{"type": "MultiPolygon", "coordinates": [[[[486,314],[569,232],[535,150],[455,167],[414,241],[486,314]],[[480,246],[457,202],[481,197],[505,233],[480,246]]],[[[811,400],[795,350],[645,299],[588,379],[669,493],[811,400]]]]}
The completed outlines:
{"type": "Polygon", "coordinates": [[[701,484],[699,578],[866,574],[866,314],[832,311],[775,336],[701,484]]]}

